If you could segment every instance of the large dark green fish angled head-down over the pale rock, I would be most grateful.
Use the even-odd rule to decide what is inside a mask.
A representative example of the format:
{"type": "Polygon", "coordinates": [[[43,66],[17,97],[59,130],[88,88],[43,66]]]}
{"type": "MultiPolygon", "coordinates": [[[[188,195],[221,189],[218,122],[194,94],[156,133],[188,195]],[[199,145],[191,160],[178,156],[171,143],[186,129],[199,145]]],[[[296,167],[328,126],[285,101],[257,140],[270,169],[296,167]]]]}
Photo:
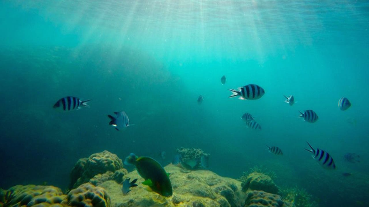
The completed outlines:
{"type": "Polygon", "coordinates": [[[170,197],[173,194],[169,174],[151,157],[137,157],[134,153],[124,160],[125,165],[134,165],[139,175],[145,179],[142,184],[149,186],[154,192],[170,197]]]}

